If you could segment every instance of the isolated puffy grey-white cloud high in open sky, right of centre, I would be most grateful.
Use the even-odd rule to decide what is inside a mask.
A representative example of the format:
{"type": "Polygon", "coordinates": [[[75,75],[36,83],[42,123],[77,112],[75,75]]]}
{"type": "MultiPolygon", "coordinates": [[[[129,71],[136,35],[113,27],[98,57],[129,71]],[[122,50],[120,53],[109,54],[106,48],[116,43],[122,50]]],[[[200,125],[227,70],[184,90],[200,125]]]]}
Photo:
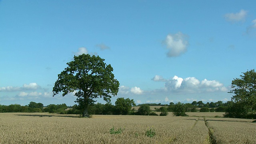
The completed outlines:
{"type": "Polygon", "coordinates": [[[178,32],[176,34],[168,34],[164,40],[164,44],[168,49],[167,56],[180,56],[187,51],[188,40],[185,34],[178,32]]]}

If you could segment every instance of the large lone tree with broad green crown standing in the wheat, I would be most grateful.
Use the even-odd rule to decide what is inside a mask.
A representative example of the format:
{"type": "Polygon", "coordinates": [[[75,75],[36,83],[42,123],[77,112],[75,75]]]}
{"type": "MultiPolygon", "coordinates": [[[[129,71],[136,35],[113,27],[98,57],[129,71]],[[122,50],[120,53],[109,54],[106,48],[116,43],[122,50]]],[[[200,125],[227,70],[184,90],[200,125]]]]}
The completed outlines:
{"type": "Polygon", "coordinates": [[[83,110],[83,117],[88,117],[88,105],[94,98],[102,98],[110,102],[112,96],[117,95],[119,82],[114,78],[113,68],[106,64],[100,56],[82,54],[74,56],[74,60],[67,63],[53,87],[53,96],[62,92],[65,96],[75,92],[78,108],[83,110]]]}

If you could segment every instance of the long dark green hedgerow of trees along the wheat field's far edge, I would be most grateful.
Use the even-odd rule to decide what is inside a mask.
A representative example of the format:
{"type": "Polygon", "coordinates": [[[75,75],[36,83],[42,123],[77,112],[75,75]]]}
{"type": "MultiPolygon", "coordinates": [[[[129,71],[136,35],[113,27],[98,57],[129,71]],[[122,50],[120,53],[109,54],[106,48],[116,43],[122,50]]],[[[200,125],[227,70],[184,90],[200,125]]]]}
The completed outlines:
{"type": "MultiPolygon", "coordinates": [[[[194,101],[190,103],[178,102],[174,104],[140,104],[136,111],[133,106],[136,106],[134,100],[129,98],[118,98],[115,105],[111,103],[91,104],[88,107],[89,114],[98,115],[152,115],[157,116],[154,111],[161,112],[160,116],[168,115],[168,112],[172,112],[175,116],[187,116],[186,112],[225,112],[224,117],[229,118],[256,118],[255,114],[250,108],[244,105],[228,101],[223,103],[218,102],[207,102],[204,104],[202,101],[194,101]],[[150,110],[150,106],[162,106],[155,108],[154,111],[150,110]]],[[[49,112],[57,114],[82,114],[81,109],[78,105],[67,106],[66,104],[50,104],[46,107],[42,103],[30,102],[26,106],[19,104],[11,104],[9,106],[0,105],[0,112],[49,112]]]]}

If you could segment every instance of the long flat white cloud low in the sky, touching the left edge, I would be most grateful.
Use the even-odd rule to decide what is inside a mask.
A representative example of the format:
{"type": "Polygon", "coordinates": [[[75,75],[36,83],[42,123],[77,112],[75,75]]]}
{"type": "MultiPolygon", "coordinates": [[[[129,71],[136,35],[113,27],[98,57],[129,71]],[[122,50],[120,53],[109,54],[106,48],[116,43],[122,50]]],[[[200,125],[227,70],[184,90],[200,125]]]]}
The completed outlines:
{"type": "Polygon", "coordinates": [[[23,84],[22,87],[13,87],[13,86],[0,87],[0,92],[1,91],[13,92],[13,91],[20,91],[20,90],[36,90],[38,88],[40,88],[40,86],[35,82],[33,82],[30,84],[23,84]]]}

